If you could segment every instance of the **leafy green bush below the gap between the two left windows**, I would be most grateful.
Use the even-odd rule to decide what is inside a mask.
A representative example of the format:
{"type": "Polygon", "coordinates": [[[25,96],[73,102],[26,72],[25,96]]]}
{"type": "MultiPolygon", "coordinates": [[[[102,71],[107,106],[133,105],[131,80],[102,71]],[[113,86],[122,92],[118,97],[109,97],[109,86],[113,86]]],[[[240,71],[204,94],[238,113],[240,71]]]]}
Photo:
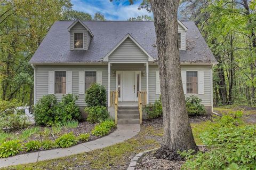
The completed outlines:
{"type": "Polygon", "coordinates": [[[78,99],[77,95],[67,94],[64,95],[61,101],[56,106],[54,123],[63,123],[69,120],[81,119],[81,111],[76,105],[78,99]]]}

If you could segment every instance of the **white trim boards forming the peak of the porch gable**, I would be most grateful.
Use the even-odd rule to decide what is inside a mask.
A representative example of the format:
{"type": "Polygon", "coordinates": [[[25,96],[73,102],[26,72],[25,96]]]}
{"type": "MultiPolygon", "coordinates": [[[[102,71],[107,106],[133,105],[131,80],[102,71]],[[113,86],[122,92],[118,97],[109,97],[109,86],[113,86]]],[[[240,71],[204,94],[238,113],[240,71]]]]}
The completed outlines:
{"type": "Polygon", "coordinates": [[[151,56],[130,34],[127,34],[123,39],[121,39],[121,41],[117,43],[117,45],[106,56],[104,56],[103,61],[108,62],[109,55],[112,54],[128,37],[148,56],[148,61],[154,61],[153,56],[151,56]]]}

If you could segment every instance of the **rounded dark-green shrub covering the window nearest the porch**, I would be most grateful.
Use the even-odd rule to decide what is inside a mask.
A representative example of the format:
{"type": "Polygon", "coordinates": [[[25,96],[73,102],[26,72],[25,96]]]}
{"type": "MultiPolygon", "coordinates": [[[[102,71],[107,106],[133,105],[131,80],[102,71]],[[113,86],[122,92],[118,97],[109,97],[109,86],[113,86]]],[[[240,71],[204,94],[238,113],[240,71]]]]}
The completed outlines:
{"type": "Polygon", "coordinates": [[[88,107],[106,106],[106,88],[100,84],[93,84],[85,92],[85,103],[88,107]]]}

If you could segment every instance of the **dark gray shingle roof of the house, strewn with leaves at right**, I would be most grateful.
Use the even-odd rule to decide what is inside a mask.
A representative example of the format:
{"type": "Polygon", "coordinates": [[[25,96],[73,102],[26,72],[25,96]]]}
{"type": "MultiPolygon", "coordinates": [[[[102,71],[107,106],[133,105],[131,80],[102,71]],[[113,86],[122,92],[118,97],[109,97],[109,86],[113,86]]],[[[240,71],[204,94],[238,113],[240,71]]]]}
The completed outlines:
{"type": "MultiPolygon", "coordinates": [[[[68,27],[74,21],[57,21],[31,58],[30,63],[99,62],[127,34],[157,59],[153,21],[83,21],[94,37],[87,51],[70,51],[68,27]]],[[[187,28],[186,51],[180,51],[181,62],[216,62],[210,48],[193,21],[182,22],[187,28]]]]}

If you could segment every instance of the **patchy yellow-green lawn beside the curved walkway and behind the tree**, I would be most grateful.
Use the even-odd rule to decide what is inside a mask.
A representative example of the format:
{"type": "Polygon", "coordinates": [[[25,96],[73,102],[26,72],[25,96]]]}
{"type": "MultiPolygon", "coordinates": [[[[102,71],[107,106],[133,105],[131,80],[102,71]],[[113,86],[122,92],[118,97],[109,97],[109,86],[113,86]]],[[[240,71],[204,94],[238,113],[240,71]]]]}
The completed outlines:
{"type": "MultiPolygon", "coordinates": [[[[227,110],[221,108],[214,110],[222,111],[222,114],[234,111],[232,109],[227,110]]],[[[245,111],[245,116],[247,114],[256,115],[256,112],[249,111],[249,113],[247,113],[247,111],[245,111]]],[[[203,132],[206,127],[210,126],[212,122],[197,122],[195,119],[190,118],[190,122],[193,122],[191,123],[191,127],[195,141],[199,145],[202,144],[202,141],[199,139],[199,134],[203,132]]],[[[208,117],[206,120],[207,119],[210,118],[208,117]]],[[[162,136],[162,119],[147,120],[143,121],[140,133],[125,142],[79,155],[2,169],[126,169],[132,157],[137,153],[159,147],[162,136]]]]}

